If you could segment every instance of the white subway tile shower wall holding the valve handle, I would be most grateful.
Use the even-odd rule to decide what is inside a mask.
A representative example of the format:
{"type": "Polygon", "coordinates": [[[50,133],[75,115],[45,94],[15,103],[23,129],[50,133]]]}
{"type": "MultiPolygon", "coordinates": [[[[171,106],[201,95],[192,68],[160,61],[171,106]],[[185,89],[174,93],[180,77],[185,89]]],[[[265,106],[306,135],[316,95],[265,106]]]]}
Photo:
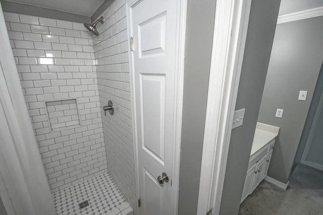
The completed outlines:
{"type": "Polygon", "coordinates": [[[101,110],[107,166],[125,199],[136,208],[135,165],[124,0],[114,1],[102,15],[105,22],[93,38],[101,106],[111,100],[114,115],[101,110]]]}

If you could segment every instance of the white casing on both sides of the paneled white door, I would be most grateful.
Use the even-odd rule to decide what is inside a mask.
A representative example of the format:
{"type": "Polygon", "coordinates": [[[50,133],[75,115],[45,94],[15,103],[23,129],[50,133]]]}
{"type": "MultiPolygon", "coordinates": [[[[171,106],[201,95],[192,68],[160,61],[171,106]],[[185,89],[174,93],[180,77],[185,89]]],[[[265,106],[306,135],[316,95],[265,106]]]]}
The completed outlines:
{"type": "MultiPolygon", "coordinates": [[[[131,29],[131,8],[143,0],[128,0],[126,2],[127,9],[127,29],[128,29],[128,50],[129,50],[129,73],[130,73],[130,89],[131,89],[131,108],[132,108],[132,127],[133,127],[133,143],[134,143],[134,159],[136,174],[136,196],[139,199],[139,171],[138,171],[138,142],[136,127],[136,101],[134,89],[134,65],[133,54],[130,51],[130,37],[132,37],[131,29]]],[[[180,149],[181,149],[181,129],[182,129],[182,106],[183,106],[183,85],[184,85],[184,48],[185,48],[185,29],[186,29],[186,11],[187,0],[177,0],[177,19],[176,19],[176,48],[175,48],[175,97],[174,97],[174,135],[173,135],[173,170],[172,170],[172,214],[178,212],[178,192],[179,192],[179,173],[180,173],[180,149]]]]}

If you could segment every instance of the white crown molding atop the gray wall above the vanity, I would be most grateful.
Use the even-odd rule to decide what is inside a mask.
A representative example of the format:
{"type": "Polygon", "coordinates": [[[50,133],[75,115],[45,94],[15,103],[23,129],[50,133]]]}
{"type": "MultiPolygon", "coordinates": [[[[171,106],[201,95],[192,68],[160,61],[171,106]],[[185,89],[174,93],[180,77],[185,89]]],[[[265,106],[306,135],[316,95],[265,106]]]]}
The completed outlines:
{"type": "Polygon", "coordinates": [[[323,16],[323,7],[299,11],[278,17],[277,24],[323,16]]]}

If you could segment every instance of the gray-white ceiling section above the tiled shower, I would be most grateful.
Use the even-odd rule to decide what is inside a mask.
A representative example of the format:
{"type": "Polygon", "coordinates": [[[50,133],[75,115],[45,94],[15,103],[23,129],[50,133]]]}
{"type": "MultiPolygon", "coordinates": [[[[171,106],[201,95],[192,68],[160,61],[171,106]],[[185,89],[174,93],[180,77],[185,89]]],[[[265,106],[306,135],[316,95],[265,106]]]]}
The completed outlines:
{"type": "Polygon", "coordinates": [[[104,0],[5,0],[8,2],[65,11],[73,14],[92,16],[104,0]]]}

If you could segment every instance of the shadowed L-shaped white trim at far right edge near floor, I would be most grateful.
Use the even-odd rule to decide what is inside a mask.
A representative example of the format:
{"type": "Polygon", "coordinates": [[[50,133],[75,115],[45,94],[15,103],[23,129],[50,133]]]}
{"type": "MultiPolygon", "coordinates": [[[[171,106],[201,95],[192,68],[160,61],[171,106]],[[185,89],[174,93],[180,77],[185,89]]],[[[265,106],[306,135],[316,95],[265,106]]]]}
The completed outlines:
{"type": "Polygon", "coordinates": [[[323,110],[323,92],[321,93],[321,96],[320,96],[320,99],[319,99],[319,102],[318,102],[318,105],[317,105],[317,109],[316,109],[316,112],[315,112],[315,115],[314,115],[314,120],[313,120],[313,122],[311,124],[311,129],[309,131],[309,134],[308,134],[308,137],[307,137],[307,140],[306,140],[305,149],[304,149],[304,152],[303,152],[303,155],[302,155],[302,158],[301,158],[301,163],[302,164],[305,164],[307,166],[313,167],[313,168],[318,169],[318,170],[323,170],[323,166],[321,166],[319,164],[315,164],[315,163],[310,162],[310,161],[307,161],[306,158],[307,158],[309,149],[310,149],[310,147],[312,145],[314,134],[315,134],[318,122],[319,122],[318,121],[319,116],[320,116],[320,114],[323,114],[323,113],[321,113],[321,110],[323,110]]]}

